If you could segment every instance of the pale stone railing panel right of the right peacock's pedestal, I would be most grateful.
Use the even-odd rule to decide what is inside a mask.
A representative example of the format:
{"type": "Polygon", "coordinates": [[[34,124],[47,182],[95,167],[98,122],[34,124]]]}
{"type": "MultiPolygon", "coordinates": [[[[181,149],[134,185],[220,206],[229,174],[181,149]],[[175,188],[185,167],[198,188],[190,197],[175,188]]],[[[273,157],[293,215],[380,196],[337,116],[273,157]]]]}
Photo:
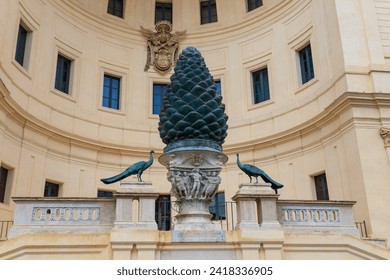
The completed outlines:
{"type": "Polygon", "coordinates": [[[338,232],[359,236],[354,201],[278,200],[278,220],[290,232],[338,232]]]}

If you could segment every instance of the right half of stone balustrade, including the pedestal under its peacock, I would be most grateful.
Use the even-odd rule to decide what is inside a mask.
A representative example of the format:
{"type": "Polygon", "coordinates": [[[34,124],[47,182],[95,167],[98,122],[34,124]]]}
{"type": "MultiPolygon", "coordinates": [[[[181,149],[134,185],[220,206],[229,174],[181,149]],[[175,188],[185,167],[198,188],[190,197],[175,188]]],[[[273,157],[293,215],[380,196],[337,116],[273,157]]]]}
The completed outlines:
{"type": "Polygon", "coordinates": [[[341,233],[359,236],[354,201],[279,200],[269,184],[242,184],[236,230],[277,229],[296,233],[341,233]]]}

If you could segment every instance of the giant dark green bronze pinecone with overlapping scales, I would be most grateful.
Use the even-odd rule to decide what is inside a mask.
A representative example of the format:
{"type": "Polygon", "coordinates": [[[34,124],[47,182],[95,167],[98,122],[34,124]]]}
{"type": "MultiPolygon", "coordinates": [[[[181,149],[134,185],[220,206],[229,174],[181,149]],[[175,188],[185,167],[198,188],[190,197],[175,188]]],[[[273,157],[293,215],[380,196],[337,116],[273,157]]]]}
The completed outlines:
{"type": "Polygon", "coordinates": [[[228,128],[221,101],[202,55],[187,47],[162,101],[158,127],[162,141],[169,146],[182,140],[201,140],[221,147],[228,128]]]}

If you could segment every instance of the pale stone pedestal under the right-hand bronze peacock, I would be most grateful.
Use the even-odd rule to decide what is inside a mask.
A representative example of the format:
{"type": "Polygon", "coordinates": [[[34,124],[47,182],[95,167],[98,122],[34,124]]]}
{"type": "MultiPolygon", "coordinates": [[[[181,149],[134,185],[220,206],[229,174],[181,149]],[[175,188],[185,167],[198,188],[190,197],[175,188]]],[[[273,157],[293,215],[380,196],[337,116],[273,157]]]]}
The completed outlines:
{"type": "Polygon", "coordinates": [[[270,184],[241,184],[232,198],[237,203],[238,230],[280,227],[276,201],[279,195],[270,184]]]}

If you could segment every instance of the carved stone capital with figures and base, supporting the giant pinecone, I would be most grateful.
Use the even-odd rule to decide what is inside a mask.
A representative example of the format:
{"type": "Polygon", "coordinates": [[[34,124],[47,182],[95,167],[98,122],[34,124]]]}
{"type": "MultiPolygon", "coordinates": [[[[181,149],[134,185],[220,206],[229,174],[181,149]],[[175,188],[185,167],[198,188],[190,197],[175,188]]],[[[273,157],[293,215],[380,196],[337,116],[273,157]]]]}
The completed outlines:
{"type": "Polygon", "coordinates": [[[173,225],[172,242],[222,242],[225,233],[213,224],[209,205],[218,191],[219,173],[227,157],[212,148],[179,147],[159,161],[168,169],[171,193],[179,214],[173,225]]]}

